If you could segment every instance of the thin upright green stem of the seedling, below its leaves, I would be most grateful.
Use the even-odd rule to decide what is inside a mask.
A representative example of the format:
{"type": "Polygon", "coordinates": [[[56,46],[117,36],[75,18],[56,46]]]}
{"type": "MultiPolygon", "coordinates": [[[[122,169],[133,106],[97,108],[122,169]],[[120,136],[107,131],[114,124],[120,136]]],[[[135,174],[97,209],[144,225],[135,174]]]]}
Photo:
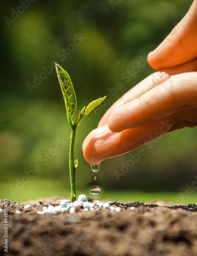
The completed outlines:
{"type": "Polygon", "coordinates": [[[70,170],[70,187],[71,187],[71,202],[76,201],[77,190],[76,190],[76,167],[75,167],[75,145],[77,137],[78,125],[71,126],[70,135],[70,151],[69,151],[69,170],[70,170]]]}

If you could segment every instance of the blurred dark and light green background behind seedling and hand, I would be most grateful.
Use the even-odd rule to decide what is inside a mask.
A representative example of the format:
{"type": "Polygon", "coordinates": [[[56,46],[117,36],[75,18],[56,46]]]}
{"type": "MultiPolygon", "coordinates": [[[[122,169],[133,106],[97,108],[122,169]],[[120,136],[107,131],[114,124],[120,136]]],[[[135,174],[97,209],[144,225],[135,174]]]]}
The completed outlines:
{"type": "Polygon", "coordinates": [[[1,199],[26,201],[70,196],[70,127],[54,69],[57,62],[72,79],[78,109],[108,95],[79,127],[76,149],[79,193],[90,196],[89,188],[95,184],[102,188],[100,199],[197,203],[196,129],[182,129],[144,145],[145,156],[119,181],[114,170],[120,170],[122,163],[130,159],[129,154],[103,161],[95,182],[82,152],[84,138],[109,106],[154,72],[146,62],[147,54],[176,26],[191,3],[188,0],[2,2],[1,199]],[[126,79],[127,70],[132,71],[132,76],[126,79]],[[121,89],[114,89],[117,82],[121,83],[121,89]],[[62,138],[60,150],[56,146],[62,138]],[[39,172],[33,175],[31,170],[38,168],[37,165],[39,172]]]}

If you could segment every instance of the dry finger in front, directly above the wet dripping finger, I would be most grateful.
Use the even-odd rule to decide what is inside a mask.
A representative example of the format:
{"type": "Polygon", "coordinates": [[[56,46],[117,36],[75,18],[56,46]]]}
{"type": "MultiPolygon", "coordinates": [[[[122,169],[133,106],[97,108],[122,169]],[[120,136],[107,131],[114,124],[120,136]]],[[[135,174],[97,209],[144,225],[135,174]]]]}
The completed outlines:
{"type": "Polygon", "coordinates": [[[167,81],[113,111],[108,118],[112,132],[120,132],[184,109],[197,106],[197,73],[171,76],[167,81]]]}

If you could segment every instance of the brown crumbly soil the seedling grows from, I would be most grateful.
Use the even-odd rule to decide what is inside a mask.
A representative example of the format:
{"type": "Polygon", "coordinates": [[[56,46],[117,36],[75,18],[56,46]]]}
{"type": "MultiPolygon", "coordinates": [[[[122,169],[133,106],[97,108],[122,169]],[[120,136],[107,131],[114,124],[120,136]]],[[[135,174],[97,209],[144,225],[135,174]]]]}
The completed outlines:
{"type": "MultiPolygon", "coordinates": [[[[61,198],[62,199],[62,198],[61,198]]],[[[0,255],[16,256],[160,256],[197,255],[197,206],[118,203],[109,209],[38,215],[61,199],[24,204],[8,201],[8,252],[4,251],[4,212],[0,213],[0,255]],[[130,207],[135,209],[131,210],[130,207]],[[16,209],[21,214],[14,213],[16,209]]],[[[4,208],[6,200],[0,200],[4,208]]]]}

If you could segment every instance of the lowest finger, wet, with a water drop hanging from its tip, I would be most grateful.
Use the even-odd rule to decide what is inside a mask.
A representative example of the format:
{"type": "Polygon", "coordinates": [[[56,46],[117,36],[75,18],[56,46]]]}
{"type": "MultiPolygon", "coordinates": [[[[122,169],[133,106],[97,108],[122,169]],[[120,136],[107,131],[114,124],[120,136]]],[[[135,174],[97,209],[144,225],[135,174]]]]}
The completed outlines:
{"type": "Polygon", "coordinates": [[[197,110],[183,110],[152,123],[113,133],[107,125],[92,131],[84,141],[84,158],[90,164],[99,164],[107,158],[126,154],[158,137],[183,127],[197,125],[197,110]]]}

